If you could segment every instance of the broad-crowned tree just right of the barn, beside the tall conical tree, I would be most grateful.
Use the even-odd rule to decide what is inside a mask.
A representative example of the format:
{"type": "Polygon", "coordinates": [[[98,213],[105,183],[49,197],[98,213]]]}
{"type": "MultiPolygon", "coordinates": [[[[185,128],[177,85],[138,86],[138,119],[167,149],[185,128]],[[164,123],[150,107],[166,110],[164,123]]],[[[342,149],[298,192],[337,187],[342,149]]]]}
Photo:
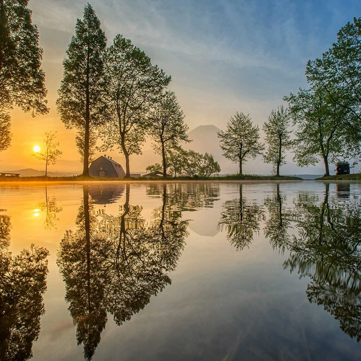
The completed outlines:
{"type": "Polygon", "coordinates": [[[170,77],[122,35],[117,35],[108,48],[106,72],[111,116],[101,131],[103,149],[117,145],[122,150],[125,177],[130,178],[129,156],[142,154],[149,106],[169,84],[170,77]]]}

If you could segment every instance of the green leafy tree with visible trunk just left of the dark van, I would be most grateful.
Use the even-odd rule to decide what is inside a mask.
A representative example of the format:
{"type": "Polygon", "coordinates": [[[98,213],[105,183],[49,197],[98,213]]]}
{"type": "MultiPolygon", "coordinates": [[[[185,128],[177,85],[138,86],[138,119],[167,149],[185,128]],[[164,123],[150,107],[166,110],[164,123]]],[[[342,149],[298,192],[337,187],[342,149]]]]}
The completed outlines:
{"type": "Polygon", "coordinates": [[[345,159],[354,150],[348,137],[349,111],[334,103],[322,87],[300,89],[284,100],[290,106],[293,125],[297,125],[293,159],[305,166],[316,165],[321,157],[325,175],[330,175],[329,161],[345,159]]]}

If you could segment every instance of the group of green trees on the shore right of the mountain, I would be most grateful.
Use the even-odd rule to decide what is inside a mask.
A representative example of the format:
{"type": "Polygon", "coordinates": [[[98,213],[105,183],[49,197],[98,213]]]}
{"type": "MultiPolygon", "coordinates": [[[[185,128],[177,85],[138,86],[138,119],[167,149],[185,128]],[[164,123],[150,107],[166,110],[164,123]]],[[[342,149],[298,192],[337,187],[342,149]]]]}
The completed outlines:
{"type": "Polygon", "coordinates": [[[253,126],[249,114],[237,113],[227,130],[218,134],[223,155],[239,163],[240,174],[244,162],[263,154],[264,162],[279,175],[284,152],[290,149],[300,167],[321,159],[325,175],[330,175],[330,162],[354,159],[355,165],[360,160],[361,17],[342,27],[322,58],[308,61],[305,74],[309,88],[284,96],[288,108],[273,109],[264,123],[265,144],[259,142],[258,126],[253,126]]]}

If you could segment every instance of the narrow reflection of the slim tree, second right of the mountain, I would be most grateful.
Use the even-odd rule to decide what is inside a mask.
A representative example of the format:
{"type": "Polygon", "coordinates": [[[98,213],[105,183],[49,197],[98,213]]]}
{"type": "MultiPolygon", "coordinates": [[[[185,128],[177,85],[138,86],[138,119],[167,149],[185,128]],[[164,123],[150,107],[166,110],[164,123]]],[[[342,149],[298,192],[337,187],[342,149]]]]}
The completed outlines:
{"type": "Polygon", "coordinates": [[[290,227],[289,213],[282,209],[283,197],[279,192],[279,183],[276,183],[275,195],[265,200],[269,218],[266,221],[264,234],[269,239],[271,246],[284,251],[290,242],[288,228],[290,227]]]}

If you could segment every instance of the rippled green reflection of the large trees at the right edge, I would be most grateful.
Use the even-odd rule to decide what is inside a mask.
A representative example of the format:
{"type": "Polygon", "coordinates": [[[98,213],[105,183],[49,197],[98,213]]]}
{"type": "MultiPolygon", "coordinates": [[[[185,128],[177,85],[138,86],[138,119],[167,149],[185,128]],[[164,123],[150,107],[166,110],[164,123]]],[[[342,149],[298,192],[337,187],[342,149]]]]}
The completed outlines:
{"type": "Polygon", "coordinates": [[[323,305],[351,337],[361,339],[361,222],[360,204],[329,202],[329,184],[321,206],[316,197],[299,196],[296,208],[303,219],[289,245],[284,268],[308,276],[306,294],[323,305]]]}

